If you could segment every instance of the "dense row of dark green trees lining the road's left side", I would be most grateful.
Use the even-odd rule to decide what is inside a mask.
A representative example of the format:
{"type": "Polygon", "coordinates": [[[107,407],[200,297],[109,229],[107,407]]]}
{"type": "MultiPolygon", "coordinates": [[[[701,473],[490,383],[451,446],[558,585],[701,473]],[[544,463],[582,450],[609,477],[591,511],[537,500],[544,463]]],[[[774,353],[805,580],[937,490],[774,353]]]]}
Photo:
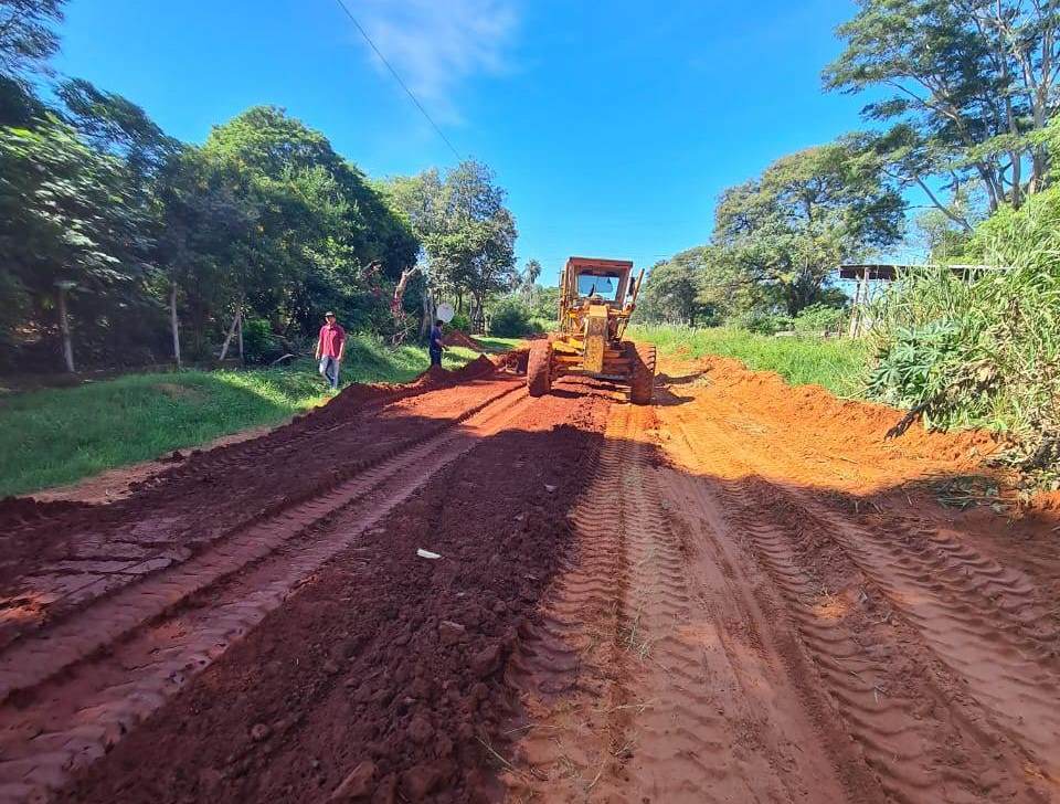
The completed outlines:
{"type": "Polygon", "coordinates": [[[61,368],[60,284],[80,366],[170,361],[178,346],[211,360],[237,340],[268,361],[325,309],[403,336],[442,296],[470,299],[481,325],[512,286],[515,221],[478,162],[371,182],[275,107],[192,145],[83,80],[52,82],[45,103],[62,7],[0,0],[0,369],[61,368]]]}

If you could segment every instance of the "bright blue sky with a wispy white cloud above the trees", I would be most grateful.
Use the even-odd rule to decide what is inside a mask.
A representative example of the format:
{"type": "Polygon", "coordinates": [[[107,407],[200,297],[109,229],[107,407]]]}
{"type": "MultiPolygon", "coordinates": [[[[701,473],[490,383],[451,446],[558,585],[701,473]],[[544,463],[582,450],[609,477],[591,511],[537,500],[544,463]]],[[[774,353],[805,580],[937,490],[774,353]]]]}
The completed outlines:
{"type": "MultiPolygon", "coordinates": [[[[847,0],[347,0],[462,155],[509,192],[520,265],[649,266],[703,243],[729,184],[857,128],[826,94],[847,0]]],[[[247,106],[325,131],[372,176],[455,157],[336,0],[70,0],[56,67],[202,141],[247,106]]]]}

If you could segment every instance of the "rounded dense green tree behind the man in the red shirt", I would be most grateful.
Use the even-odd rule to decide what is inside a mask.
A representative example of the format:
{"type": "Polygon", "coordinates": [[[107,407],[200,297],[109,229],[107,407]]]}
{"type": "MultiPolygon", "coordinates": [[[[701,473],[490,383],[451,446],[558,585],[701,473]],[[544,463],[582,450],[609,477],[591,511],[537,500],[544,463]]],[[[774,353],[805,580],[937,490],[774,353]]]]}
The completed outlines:
{"type": "Polygon", "coordinates": [[[277,331],[308,332],[321,308],[352,327],[386,327],[389,296],[417,243],[363,174],[282,109],[255,107],[202,148],[211,187],[255,220],[236,241],[229,304],[245,302],[277,331]]]}

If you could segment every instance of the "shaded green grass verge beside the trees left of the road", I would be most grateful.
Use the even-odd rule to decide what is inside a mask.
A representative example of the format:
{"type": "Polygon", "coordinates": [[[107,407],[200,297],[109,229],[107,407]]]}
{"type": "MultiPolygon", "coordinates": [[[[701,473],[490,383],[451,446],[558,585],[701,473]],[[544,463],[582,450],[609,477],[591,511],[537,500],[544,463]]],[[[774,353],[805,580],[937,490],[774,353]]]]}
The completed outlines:
{"type": "MultiPolygon", "coordinates": [[[[487,338],[502,350],[508,339],[487,338]]],[[[477,355],[447,349],[446,368],[477,355]]],[[[407,382],[430,366],[418,346],[351,337],[342,383],[407,382]]],[[[65,485],[105,469],[277,424],[326,399],[310,358],[277,369],[127,374],[0,398],[0,497],[65,485]]]]}

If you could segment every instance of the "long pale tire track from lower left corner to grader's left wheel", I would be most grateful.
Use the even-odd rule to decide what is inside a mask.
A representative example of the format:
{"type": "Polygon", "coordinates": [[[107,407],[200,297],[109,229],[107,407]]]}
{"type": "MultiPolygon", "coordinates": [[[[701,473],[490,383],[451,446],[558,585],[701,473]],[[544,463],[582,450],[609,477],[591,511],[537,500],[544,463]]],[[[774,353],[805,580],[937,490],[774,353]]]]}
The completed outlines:
{"type": "Polygon", "coordinates": [[[303,579],[443,466],[524,413],[529,400],[519,381],[499,381],[497,387],[487,402],[458,417],[460,426],[455,421],[434,438],[342,484],[326,499],[289,509],[278,521],[226,540],[177,573],[138,584],[128,590],[129,601],[119,594],[89,609],[86,618],[102,624],[103,631],[86,628],[75,617],[34,646],[43,652],[70,630],[80,655],[60,648],[42,654],[53,664],[26,667],[22,657],[10,656],[18,650],[7,652],[0,658],[25,671],[29,680],[0,709],[0,801],[25,801],[56,789],[72,772],[102,757],[280,605],[303,579]],[[89,636],[92,644],[86,642],[89,636]],[[106,652],[99,654],[104,646],[106,652]],[[57,663],[66,663],[62,675],[56,675],[57,663]],[[36,676],[30,678],[33,671],[36,676]]]}

